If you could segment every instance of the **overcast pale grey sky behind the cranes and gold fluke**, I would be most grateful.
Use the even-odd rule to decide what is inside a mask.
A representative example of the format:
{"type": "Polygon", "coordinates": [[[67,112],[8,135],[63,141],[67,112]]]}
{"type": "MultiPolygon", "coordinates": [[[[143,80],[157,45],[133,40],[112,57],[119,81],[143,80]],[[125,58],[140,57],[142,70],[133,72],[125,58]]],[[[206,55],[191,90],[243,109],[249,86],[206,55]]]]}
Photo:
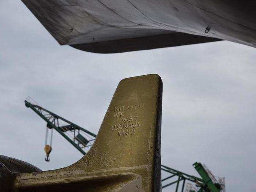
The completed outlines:
{"type": "Polygon", "coordinates": [[[227,192],[256,191],[255,48],[222,41],[95,54],[60,46],[19,0],[1,0],[0,18],[1,154],[42,170],[78,161],[57,132],[44,161],[46,124],[24,99],[97,133],[118,82],[154,73],[163,80],[162,164],[198,176],[192,164],[202,162],[226,177],[227,192]]]}

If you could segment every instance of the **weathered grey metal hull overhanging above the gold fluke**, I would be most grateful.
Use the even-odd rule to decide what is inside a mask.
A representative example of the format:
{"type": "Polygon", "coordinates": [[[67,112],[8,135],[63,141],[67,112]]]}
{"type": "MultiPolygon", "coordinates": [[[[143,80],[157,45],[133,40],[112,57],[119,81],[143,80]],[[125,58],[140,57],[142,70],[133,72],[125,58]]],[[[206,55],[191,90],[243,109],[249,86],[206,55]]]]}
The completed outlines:
{"type": "Polygon", "coordinates": [[[256,1],[22,1],[61,45],[91,52],[125,52],[218,39],[256,47],[256,1]],[[205,33],[206,29],[210,31],[205,33]]]}

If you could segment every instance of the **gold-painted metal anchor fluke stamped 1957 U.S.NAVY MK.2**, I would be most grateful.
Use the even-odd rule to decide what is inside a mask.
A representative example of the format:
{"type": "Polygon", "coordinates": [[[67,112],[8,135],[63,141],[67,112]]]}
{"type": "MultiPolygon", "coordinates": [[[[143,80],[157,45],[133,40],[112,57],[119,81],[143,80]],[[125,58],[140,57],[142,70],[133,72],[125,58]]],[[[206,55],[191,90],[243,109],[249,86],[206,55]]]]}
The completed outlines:
{"type": "Polygon", "coordinates": [[[90,151],[68,167],[18,175],[15,191],[161,191],[161,109],[158,75],[121,80],[90,151]]]}

